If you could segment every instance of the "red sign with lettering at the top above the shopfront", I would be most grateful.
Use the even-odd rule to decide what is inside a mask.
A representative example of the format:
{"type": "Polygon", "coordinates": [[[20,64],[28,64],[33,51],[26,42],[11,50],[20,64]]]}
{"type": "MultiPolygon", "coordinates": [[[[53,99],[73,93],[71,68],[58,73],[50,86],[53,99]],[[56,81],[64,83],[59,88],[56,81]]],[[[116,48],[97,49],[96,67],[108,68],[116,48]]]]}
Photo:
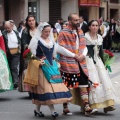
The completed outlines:
{"type": "Polygon", "coordinates": [[[79,6],[100,6],[100,0],[79,0],[79,6]]]}

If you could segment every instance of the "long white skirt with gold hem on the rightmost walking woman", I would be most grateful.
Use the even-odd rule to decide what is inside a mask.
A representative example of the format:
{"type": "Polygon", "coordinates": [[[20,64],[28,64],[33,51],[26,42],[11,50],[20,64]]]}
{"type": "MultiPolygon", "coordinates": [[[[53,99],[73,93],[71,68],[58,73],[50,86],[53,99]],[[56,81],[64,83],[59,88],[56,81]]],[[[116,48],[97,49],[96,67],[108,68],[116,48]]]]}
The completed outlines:
{"type": "Polygon", "coordinates": [[[86,56],[89,78],[97,87],[91,87],[89,101],[92,108],[104,108],[115,104],[115,91],[107,70],[100,58],[93,59],[86,56]]]}

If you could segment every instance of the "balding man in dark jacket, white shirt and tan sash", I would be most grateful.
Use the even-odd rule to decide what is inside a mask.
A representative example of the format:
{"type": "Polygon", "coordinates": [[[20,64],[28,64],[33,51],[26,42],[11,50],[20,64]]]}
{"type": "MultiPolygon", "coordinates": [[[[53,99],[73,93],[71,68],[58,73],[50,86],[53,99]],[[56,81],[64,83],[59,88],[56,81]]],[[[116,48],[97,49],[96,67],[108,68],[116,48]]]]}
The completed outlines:
{"type": "Polygon", "coordinates": [[[20,62],[21,40],[18,32],[13,30],[13,26],[9,21],[5,22],[5,30],[3,38],[5,41],[8,63],[10,66],[14,88],[18,86],[18,66],[20,62]]]}

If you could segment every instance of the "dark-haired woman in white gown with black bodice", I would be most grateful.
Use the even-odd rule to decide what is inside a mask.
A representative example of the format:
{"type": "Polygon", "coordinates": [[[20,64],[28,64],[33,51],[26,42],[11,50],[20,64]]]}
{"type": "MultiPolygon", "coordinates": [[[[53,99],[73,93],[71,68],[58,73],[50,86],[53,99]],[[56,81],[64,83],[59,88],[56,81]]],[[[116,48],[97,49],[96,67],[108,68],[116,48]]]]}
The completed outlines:
{"type": "Polygon", "coordinates": [[[103,38],[97,34],[99,24],[92,20],[88,24],[89,31],[85,33],[88,56],[86,56],[89,78],[96,86],[91,86],[89,101],[92,108],[104,108],[104,112],[115,110],[115,94],[111,79],[103,63],[103,38]]]}

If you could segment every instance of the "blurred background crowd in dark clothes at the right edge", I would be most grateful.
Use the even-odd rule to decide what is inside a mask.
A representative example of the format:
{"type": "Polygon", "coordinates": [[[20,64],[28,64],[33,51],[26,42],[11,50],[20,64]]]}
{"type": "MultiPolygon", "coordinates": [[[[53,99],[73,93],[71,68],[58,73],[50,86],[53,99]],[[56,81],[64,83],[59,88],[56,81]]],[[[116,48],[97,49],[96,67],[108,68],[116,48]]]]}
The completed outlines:
{"type": "Polygon", "coordinates": [[[110,50],[113,52],[120,51],[120,19],[115,20],[107,19],[103,21],[103,19],[99,19],[100,30],[99,33],[103,38],[103,48],[106,50],[110,50]]]}

